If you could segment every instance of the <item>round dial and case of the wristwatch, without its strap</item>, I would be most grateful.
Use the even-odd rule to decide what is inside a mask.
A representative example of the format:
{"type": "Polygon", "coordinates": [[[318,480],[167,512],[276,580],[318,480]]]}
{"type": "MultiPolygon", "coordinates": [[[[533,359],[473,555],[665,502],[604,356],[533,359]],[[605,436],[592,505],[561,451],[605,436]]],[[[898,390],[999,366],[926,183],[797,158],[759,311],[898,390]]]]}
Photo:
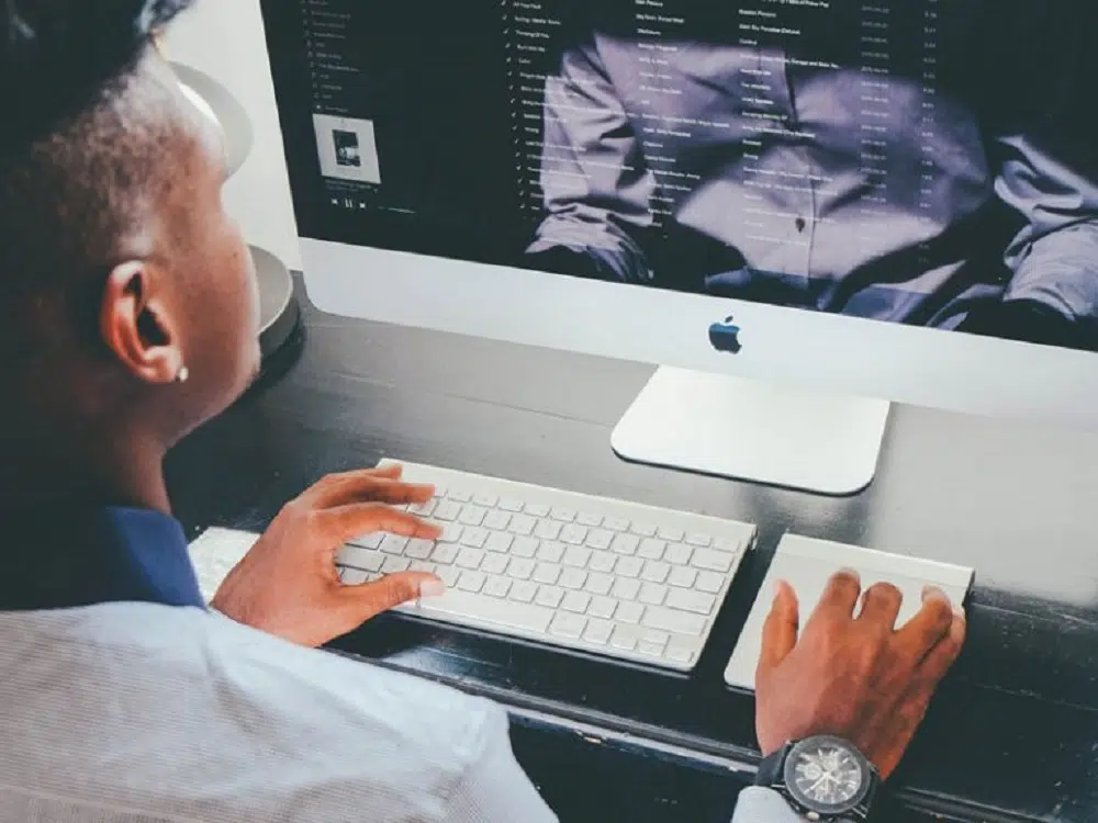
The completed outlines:
{"type": "Polygon", "coordinates": [[[843,814],[870,792],[865,758],[837,737],[811,737],[793,747],[785,762],[785,785],[798,803],[820,814],[843,814]]]}

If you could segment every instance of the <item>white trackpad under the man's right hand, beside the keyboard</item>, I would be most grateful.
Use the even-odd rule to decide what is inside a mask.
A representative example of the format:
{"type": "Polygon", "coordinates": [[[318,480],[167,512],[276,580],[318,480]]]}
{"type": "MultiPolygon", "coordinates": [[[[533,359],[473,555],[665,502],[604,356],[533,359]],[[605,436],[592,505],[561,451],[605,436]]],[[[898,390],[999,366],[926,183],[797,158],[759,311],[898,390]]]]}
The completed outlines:
{"type": "Polygon", "coordinates": [[[862,549],[786,534],[778,543],[748,621],[725,669],[725,683],[741,689],[754,689],[755,668],[762,653],[762,627],[774,604],[777,580],[788,583],[797,593],[800,628],[811,616],[828,580],[836,572],[851,568],[862,578],[864,591],[875,583],[888,582],[904,595],[896,627],[903,625],[922,608],[922,589],[937,586],[956,608],[962,608],[972,586],[973,570],[949,563],[862,549]]]}

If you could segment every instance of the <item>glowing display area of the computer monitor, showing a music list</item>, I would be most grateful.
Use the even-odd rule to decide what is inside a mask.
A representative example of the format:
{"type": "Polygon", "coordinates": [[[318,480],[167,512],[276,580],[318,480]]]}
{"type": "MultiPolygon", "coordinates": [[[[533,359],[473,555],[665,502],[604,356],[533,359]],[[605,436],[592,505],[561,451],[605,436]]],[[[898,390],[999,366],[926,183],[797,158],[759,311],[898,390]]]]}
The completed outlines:
{"type": "Polygon", "coordinates": [[[1094,0],[269,0],[311,238],[1098,348],[1094,0]]]}

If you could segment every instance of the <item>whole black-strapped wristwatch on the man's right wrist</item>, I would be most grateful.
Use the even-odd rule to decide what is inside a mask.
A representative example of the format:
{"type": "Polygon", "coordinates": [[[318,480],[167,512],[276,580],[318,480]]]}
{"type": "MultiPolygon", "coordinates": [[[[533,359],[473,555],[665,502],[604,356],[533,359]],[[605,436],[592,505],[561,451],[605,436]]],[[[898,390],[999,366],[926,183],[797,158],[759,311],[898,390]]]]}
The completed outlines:
{"type": "Polygon", "coordinates": [[[778,792],[814,823],[867,823],[881,776],[852,744],[821,735],[764,758],[755,786],[778,792]]]}

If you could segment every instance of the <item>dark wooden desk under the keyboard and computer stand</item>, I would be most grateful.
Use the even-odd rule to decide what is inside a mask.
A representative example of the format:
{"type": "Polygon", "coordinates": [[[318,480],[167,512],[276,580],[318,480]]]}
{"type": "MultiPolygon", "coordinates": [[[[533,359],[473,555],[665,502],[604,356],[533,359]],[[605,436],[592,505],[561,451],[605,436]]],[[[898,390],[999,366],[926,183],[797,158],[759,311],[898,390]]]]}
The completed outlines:
{"type": "Polygon", "coordinates": [[[169,460],[177,512],[261,530],[322,475],[380,456],[758,522],[690,677],[388,616],[335,646],[514,709],[564,821],[725,823],[757,762],[721,673],[784,531],[977,570],[970,640],[894,785],[889,821],[1098,820],[1098,437],[898,408],[879,475],[828,499],[629,465],[609,448],[648,367],[349,322],[307,339],[169,460]]]}

